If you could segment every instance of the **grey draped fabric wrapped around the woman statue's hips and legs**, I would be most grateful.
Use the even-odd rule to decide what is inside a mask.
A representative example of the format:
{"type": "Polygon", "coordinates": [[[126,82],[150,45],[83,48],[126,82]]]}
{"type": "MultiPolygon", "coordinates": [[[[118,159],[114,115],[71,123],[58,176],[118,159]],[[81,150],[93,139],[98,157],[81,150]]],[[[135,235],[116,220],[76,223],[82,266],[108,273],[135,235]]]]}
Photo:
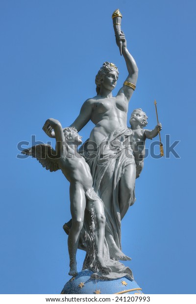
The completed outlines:
{"type": "MultiPolygon", "coordinates": [[[[97,151],[88,152],[88,144],[91,144],[89,140],[79,149],[79,153],[85,158],[90,167],[93,177],[93,188],[104,204],[106,225],[103,259],[106,266],[112,269],[109,275],[96,272],[96,268],[94,267],[95,254],[92,252],[92,219],[88,212],[86,212],[84,227],[80,233],[80,245],[87,252],[83,269],[95,271],[92,278],[117,279],[127,276],[133,279],[132,271],[128,267],[111,259],[110,252],[112,251],[112,245],[109,241],[112,239],[121,250],[120,179],[126,166],[135,166],[134,156],[129,144],[130,132],[131,130],[127,128],[115,130],[101,142],[97,151]]],[[[93,200],[93,197],[89,197],[87,193],[86,196],[87,199],[93,200]]],[[[129,204],[132,205],[134,201],[135,194],[133,192],[129,204]]]]}

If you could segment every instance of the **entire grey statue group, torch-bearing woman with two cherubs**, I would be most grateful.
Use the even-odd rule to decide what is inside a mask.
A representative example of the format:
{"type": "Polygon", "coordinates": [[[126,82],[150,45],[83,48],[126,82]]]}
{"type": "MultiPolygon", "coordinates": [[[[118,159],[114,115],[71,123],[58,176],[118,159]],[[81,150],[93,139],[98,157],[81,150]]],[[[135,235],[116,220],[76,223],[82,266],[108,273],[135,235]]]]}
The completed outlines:
{"type": "Polygon", "coordinates": [[[143,129],[147,116],[140,108],[133,111],[131,127],[127,127],[128,103],[136,88],[138,68],[127,49],[119,10],[112,19],[116,43],[128,71],[117,96],[112,91],[117,84],[118,68],[104,62],[95,79],[97,95],[83,103],[70,127],[62,128],[54,119],[46,121],[43,129],[49,137],[56,138],[56,150],[49,145],[24,150],[46,169],[61,169],[70,182],[72,219],[63,228],[69,235],[69,274],[73,279],[78,278],[75,256],[79,248],[86,251],[83,270],[91,271],[91,279],[134,280],[131,269],[120,262],[131,259],[122,250],[121,221],[135,202],[135,180],[144,166],[145,140],[155,137],[162,128],[158,124],[154,130],[143,129]],[[95,127],[77,151],[81,143],[77,130],[89,121],[95,127]]]}

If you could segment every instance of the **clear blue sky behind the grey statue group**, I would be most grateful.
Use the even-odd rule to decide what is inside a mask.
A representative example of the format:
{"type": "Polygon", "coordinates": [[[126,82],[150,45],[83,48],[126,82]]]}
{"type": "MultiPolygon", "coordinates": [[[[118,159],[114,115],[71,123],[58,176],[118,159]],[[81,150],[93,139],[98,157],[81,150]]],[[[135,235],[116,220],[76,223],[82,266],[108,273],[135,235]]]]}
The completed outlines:
{"type": "MultiPolygon", "coordinates": [[[[17,144],[33,134],[46,142],[49,117],[73,123],[96,94],[104,61],[119,68],[117,94],[127,71],[113,32],[116,8],[139,68],[128,116],[142,107],[154,128],[156,99],[163,143],[166,134],[180,141],[179,159],[145,160],[122,223],[123,252],[144,293],[196,293],[194,0],[0,1],[0,293],[58,294],[70,279],[62,229],[70,219],[68,181],[35,159],[16,158],[17,144]]],[[[92,127],[80,132],[84,140],[92,127]]],[[[78,252],[80,269],[83,257],[78,252]]]]}

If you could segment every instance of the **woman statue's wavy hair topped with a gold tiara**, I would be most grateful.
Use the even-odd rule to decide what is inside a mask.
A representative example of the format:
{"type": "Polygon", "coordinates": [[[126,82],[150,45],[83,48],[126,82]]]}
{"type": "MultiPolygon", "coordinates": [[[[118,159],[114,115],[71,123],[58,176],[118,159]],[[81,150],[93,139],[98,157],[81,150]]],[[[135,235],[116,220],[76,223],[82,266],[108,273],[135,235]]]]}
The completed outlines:
{"type": "Polygon", "coordinates": [[[103,63],[103,66],[100,68],[100,70],[98,71],[98,74],[96,75],[96,78],[95,78],[95,83],[97,85],[97,87],[96,87],[97,94],[100,91],[100,86],[104,80],[105,75],[107,75],[110,72],[115,72],[117,74],[117,76],[119,75],[117,66],[114,63],[110,63],[110,62],[106,61],[103,63]]]}

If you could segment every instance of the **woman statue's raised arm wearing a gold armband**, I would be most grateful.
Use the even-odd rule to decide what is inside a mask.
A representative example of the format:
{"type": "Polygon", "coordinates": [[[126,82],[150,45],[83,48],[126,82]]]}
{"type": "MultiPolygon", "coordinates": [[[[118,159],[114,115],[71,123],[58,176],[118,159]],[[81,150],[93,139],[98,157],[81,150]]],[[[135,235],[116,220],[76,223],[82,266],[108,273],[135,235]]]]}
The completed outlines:
{"type": "Polygon", "coordinates": [[[124,98],[129,101],[136,87],[138,79],[138,67],[133,56],[129,53],[127,49],[126,39],[123,31],[121,32],[119,39],[123,41],[123,57],[128,70],[128,76],[123,83],[123,87],[120,89],[117,95],[123,95],[124,98]]]}

